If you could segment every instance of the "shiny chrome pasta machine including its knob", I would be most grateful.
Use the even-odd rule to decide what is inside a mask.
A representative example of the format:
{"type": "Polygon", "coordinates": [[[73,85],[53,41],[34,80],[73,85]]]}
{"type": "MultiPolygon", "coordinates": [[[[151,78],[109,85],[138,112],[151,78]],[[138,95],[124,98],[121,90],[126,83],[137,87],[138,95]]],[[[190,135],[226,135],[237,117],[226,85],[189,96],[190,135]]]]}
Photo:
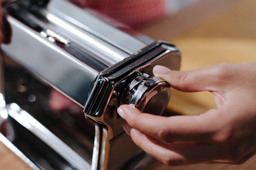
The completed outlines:
{"type": "MultiPolygon", "coordinates": [[[[134,104],[161,114],[170,85],[153,77],[152,68],[179,70],[179,50],[163,41],[143,43],[67,1],[36,2],[5,6],[13,29],[12,43],[2,45],[12,61],[5,64],[6,74],[13,75],[6,77],[5,97],[14,129],[22,127],[17,132],[28,133],[28,142],[37,139],[56,155],[59,165],[41,154],[47,164],[40,166],[133,169],[146,164],[149,159],[124,132],[125,120],[116,110],[134,104]]],[[[39,165],[34,151],[19,143],[24,140],[19,133],[13,133],[15,146],[39,165]]]]}

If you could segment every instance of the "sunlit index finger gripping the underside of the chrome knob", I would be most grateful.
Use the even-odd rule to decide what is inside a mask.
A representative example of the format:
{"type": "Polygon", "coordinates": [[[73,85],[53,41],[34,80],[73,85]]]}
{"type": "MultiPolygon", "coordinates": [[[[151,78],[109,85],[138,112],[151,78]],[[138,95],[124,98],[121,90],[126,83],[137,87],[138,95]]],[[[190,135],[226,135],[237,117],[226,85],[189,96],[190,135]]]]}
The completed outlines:
{"type": "Polygon", "coordinates": [[[141,113],[132,105],[121,105],[119,115],[133,128],[165,141],[212,141],[218,128],[212,109],[199,116],[163,117],[141,113]]]}

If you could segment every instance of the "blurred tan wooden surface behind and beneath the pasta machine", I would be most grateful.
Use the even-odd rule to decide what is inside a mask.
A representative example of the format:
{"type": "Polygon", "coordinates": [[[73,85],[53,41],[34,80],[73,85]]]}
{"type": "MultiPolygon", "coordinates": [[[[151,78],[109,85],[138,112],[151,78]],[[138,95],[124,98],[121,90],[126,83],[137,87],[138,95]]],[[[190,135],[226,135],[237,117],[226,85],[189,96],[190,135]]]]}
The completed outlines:
{"type": "MultiPolygon", "coordinates": [[[[198,11],[196,15],[193,15],[197,8],[194,6],[194,11],[190,10],[176,17],[165,18],[141,31],[155,39],[172,41],[182,52],[181,70],[196,69],[222,62],[256,62],[256,21],[254,19],[256,1],[214,1],[218,3],[213,3],[210,7],[205,2],[201,4],[204,5],[204,10],[198,11]]],[[[210,1],[209,4],[211,4],[210,1]]],[[[215,103],[213,95],[209,92],[185,94],[173,90],[168,107],[182,114],[191,115],[203,113],[215,107],[215,103]]],[[[1,142],[0,167],[8,170],[30,169],[1,142]]],[[[157,162],[151,165],[151,169],[253,170],[256,169],[256,156],[238,166],[214,164],[166,167],[157,162]],[[161,166],[157,168],[159,165],[161,166]]]]}

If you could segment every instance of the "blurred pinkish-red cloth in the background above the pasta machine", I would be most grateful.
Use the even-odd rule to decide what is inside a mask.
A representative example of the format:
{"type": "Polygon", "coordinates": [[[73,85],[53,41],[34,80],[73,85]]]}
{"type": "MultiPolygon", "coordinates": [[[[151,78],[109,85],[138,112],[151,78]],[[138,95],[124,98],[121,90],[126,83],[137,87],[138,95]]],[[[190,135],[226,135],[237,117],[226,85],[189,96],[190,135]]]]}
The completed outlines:
{"type": "Polygon", "coordinates": [[[166,15],[166,0],[70,0],[136,27],[166,15]]]}

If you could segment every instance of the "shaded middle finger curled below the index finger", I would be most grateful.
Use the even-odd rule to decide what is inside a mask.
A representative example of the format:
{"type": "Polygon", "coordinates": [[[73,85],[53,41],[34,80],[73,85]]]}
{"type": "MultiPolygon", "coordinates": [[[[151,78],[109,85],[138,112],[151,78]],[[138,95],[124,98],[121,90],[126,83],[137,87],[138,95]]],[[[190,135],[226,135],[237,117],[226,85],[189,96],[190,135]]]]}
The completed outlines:
{"type": "Polygon", "coordinates": [[[216,159],[218,149],[210,143],[174,142],[152,138],[131,128],[131,138],[146,153],[168,166],[198,164],[216,159]]]}

